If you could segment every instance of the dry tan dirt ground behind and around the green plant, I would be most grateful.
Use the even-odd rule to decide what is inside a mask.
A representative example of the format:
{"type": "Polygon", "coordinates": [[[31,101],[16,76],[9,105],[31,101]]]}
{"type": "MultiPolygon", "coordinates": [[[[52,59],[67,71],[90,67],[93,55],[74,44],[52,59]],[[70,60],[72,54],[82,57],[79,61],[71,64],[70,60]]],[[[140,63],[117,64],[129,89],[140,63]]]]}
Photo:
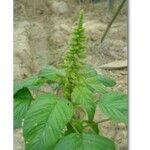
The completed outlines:
{"type": "MultiPolygon", "coordinates": [[[[97,0],[98,1],[98,0],[97,0]]],[[[109,11],[106,0],[89,3],[84,0],[14,0],[14,80],[37,74],[47,64],[57,66],[67,50],[72,26],[78,12],[85,10],[84,26],[87,36],[87,62],[98,72],[108,73],[117,81],[116,89],[127,93],[127,66],[117,67],[127,60],[127,4],[113,23],[106,39],[100,39],[120,0],[109,11]],[[102,65],[116,62],[116,68],[102,65]],[[119,65],[119,64],[118,64],[119,65]]],[[[97,110],[95,120],[103,118],[97,110]]],[[[127,127],[104,122],[100,126],[107,137],[114,139],[118,150],[127,150],[127,127]]],[[[24,150],[21,129],[14,130],[14,150],[24,150]]]]}

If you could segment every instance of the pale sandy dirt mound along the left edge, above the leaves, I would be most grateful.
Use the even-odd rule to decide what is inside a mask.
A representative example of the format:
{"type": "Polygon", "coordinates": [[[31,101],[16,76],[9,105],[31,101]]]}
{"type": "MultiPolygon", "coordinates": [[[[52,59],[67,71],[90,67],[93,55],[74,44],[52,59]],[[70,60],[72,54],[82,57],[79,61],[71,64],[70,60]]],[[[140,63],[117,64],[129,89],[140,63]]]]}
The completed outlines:
{"type": "Polygon", "coordinates": [[[14,79],[22,79],[29,74],[27,66],[30,59],[30,46],[26,36],[28,25],[29,22],[23,21],[14,28],[14,79]]]}

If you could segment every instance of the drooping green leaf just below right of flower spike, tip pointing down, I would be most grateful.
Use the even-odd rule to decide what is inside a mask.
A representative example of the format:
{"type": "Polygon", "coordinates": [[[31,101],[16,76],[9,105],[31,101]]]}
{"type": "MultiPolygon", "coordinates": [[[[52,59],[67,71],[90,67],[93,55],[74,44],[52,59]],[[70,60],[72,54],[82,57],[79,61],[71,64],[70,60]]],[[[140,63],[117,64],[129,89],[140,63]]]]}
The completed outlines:
{"type": "Polygon", "coordinates": [[[95,114],[95,103],[93,93],[86,87],[76,86],[72,92],[72,100],[81,105],[88,114],[90,120],[93,120],[95,114]]]}

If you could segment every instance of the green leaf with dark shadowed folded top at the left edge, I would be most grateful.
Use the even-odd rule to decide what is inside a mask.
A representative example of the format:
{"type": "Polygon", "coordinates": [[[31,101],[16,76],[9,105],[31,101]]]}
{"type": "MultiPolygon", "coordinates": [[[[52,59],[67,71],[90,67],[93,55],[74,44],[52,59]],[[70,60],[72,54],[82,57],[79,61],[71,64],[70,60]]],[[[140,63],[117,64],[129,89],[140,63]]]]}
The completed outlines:
{"type": "Polygon", "coordinates": [[[14,128],[22,127],[22,120],[32,100],[32,95],[27,88],[22,88],[14,95],[14,128]]]}

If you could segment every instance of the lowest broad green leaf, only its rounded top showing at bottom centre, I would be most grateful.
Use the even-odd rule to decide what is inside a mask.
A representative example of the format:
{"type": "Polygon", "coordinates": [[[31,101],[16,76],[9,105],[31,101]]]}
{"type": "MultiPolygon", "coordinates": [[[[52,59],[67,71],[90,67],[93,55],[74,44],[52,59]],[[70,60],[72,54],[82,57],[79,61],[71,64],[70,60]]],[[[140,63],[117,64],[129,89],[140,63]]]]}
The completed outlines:
{"type": "Polygon", "coordinates": [[[72,133],[63,137],[53,150],[115,150],[110,139],[96,134],[72,133]]]}

